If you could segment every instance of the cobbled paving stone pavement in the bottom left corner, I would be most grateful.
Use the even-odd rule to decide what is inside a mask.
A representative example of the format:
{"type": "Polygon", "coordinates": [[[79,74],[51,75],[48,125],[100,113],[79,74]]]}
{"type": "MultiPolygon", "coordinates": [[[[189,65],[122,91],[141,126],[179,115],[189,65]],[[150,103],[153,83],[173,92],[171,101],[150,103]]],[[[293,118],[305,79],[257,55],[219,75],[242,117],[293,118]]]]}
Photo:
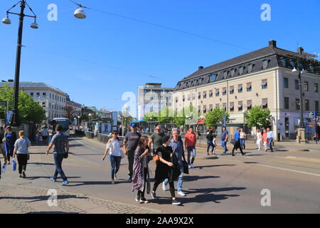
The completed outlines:
{"type": "Polygon", "coordinates": [[[139,207],[87,195],[57,191],[57,205],[49,206],[48,189],[0,185],[0,213],[156,214],[160,210],[139,207]]]}

